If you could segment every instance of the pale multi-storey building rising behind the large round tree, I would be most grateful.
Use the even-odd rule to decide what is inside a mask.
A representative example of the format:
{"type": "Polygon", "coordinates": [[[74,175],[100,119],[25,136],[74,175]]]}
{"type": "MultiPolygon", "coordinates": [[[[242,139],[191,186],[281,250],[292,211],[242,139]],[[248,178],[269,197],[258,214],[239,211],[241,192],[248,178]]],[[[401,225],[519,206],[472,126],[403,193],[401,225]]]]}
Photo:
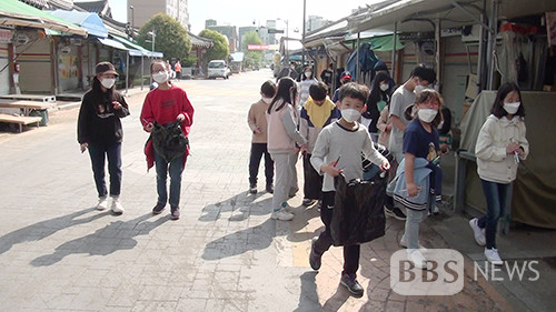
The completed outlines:
{"type": "Polygon", "coordinates": [[[147,23],[153,16],[166,13],[175,18],[186,30],[189,30],[189,10],[187,1],[188,0],[128,0],[128,20],[138,29],[147,23]],[[133,7],[132,11],[130,6],[133,7]]]}

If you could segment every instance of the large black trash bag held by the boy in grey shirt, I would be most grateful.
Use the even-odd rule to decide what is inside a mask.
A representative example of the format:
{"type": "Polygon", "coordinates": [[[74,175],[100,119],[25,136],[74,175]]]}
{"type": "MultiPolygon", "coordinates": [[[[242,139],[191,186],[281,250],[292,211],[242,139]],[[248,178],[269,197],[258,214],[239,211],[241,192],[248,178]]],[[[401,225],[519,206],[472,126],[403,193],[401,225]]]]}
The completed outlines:
{"type": "Polygon", "coordinates": [[[335,178],[336,197],[330,222],[332,244],[351,245],[384,236],[386,217],[386,174],[371,181],[346,182],[342,174],[335,178]]]}

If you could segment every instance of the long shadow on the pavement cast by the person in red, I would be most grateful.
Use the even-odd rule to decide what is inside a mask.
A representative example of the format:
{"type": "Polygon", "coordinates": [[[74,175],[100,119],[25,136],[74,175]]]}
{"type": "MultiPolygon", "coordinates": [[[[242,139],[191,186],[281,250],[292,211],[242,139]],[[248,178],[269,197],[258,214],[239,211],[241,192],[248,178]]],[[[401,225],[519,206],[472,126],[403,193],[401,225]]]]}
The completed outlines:
{"type": "Polygon", "coordinates": [[[68,241],[56,248],[51,254],[41,255],[31,261],[34,266],[52,265],[64,256],[77,253],[89,253],[89,255],[107,255],[118,250],[130,250],[137,245],[133,239],[137,235],[146,235],[151,230],[169,221],[161,217],[156,221],[146,221],[151,213],[143,214],[129,221],[110,222],[95,233],[68,241]]]}

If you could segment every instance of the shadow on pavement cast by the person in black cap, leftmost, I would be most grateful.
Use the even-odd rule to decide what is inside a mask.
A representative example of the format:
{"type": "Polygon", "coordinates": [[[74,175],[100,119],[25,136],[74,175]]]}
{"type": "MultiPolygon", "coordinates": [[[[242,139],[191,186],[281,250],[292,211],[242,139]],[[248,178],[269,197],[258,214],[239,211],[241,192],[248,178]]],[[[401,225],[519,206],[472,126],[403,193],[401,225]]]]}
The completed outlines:
{"type": "Polygon", "coordinates": [[[29,227],[16,230],[0,238],[0,254],[9,251],[14,244],[40,241],[56,232],[68,229],[78,224],[89,223],[99,218],[110,215],[109,211],[99,212],[93,215],[85,217],[88,212],[99,212],[95,208],[88,208],[73,213],[58,217],[54,219],[44,220],[29,227]],[[83,217],[81,219],[78,219],[83,217]]]}

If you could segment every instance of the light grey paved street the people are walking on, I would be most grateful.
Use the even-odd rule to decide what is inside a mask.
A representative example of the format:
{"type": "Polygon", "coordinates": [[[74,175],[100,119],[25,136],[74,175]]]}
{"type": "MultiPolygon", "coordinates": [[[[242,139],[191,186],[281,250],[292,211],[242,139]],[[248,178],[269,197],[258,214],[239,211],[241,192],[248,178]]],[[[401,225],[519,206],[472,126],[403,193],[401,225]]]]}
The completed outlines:
{"type": "MultiPolygon", "coordinates": [[[[330,249],[321,270],[312,271],[309,240],[322,229],[318,212],[301,208],[298,193],[290,200],[295,220],[274,221],[271,197],[247,194],[247,111],[266,79],[271,79],[268,69],[229,80],[177,82],[196,109],[178,221],[170,220],[168,208],[151,214],[156,174],[147,172],[142,148],[148,135],[139,123],[147,89],[130,90],[131,115],[122,120],[122,215],[95,210],[89,155],[80,153],[76,140],[78,109],[52,113],[48,127],[0,133],[0,311],[530,309],[516,305],[515,294],[481,278],[475,281],[467,258],[465,288],[456,295],[393,292],[389,259],[400,249],[404,223],[391,219],[384,238],[361,248],[363,298],[339,285],[341,249],[330,249]]],[[[449,246],[434,225],[421,227],[423,243],[449,246]]],[[[468,240],[470,230],[461,229],[468,240]]],[[[539,306],[535,310],[548,311],[539,306]]]]}

